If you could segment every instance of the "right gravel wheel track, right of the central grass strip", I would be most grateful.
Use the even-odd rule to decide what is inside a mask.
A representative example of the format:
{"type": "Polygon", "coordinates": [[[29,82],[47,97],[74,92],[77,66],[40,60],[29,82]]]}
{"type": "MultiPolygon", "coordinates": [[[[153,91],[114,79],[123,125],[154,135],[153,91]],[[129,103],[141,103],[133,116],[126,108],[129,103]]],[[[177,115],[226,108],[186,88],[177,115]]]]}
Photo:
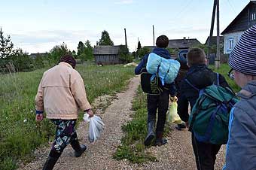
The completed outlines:
{"type": "MultiPolygon", "coordinates": [[[[141,169],[196,170],[197,165],[191,144],[191,133],[187,130],[178,131],[175,125],[167,136],[168,144],[162,147],[150,147],[148,150],[158,158],[158,162],[142,165],[141,169]]],[[[215,170],[224,165],[224,147],[218,153],[215,170]]]]}

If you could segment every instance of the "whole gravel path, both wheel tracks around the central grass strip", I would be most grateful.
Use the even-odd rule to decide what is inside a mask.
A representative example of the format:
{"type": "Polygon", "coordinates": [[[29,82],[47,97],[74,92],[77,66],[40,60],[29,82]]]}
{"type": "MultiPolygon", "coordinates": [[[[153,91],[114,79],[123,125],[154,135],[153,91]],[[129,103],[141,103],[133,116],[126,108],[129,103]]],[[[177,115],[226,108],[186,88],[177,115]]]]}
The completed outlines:
{"type": "MultiPolygon", "coordinates": [[[[102,120],[105,123],[104,132],[99,141],[94,144],[88,144],[87,130],[84,123],[78,126],[78,136],[81,143],[86,142],[88,150],[79,158],[75,158],[72,147],[68,146],[55,168],[59,170],[80,170],[80,169],[170,169],[170,170],[195,170],[196,163],[192,150],[190,132],[187,130],[178,131],[175,126],[171,126],[171,132],[167,139],[168,144],[162,147],[150,147],[147,150],[154,156],[157,156],[158,162],[148,162],[143,164],[132,164],[127,160],[117,161],[112,159],[120,139],[123,136],[121,126],[127,120],[130,120],[132,100],[136,95],[136,89],[139,86],[139,77],[134,77],[129,85],[128,90],[124,93],[117,94],[117,97],[111,102],[111,105],[102,114],[102,120]]],[[[100,99],[102,101],[102,99],[100,99]]],[[[47,154],[49,146],[43,148],[36,155],[35,160],[28,165],[23,165],[20,170],[41,169],[47,154]]],[[[218,154],[215,169],[221,170],[224,161],[224,150],[218,154]]]]}

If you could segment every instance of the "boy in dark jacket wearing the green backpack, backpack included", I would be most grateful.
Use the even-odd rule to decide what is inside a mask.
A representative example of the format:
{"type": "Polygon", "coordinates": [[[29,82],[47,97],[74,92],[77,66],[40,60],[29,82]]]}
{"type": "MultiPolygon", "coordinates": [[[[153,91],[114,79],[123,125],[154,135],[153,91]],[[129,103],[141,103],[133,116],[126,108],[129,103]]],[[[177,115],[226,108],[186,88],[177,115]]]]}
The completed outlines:
{"type": "MultiPolygon", "coordinates": [[[[230,109],[223,104],[226,99],[222,99],[223,96],[218,96],[218,94],[230,93],[228,95],[229,99],[227,99],[230,101],[233,101],[234,94],[231,90],[225,89],[225,87],[229,88],[229,85],[221,74],[216,74],[207,68],[206,54],[202,49],[193,48],[189,50],[187,65],[189,69],[180,85],[181,94],[178,112],[187,127],[190,119],[190,131],[192,132],[192,145],[197,169],[214,170],[216,154],[221,148],[221,142],[215,142],[216,138],[212,139],[212,137],[215,137],[214,128],[218,125],[221,128],[223,127],[221,120],[227,120],[226,113],[230,109]],[[211,92],[212,94],[209,94],[211,92]],[[190,116],[188,114],[188,103],[191,108],[190,116]],[[223,111],[226,114],[224,116],[221,115],[221,105],[226,107],[226,111],[223,111]],[[202,130],[205,132],[201,132],[202,130]]],[[[229,104],[229,102],[227,103],[229,104]]],[[[222,135],[222,132],[218,132],[218,134],[222,135]]]]}

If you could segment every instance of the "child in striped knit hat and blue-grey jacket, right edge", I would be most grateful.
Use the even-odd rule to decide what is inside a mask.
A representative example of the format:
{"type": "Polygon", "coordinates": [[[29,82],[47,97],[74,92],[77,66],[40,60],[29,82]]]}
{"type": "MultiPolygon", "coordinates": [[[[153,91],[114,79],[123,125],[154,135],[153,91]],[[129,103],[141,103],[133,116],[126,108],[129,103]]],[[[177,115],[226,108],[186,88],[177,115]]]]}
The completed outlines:
{"type": "Polygon", "coordinates": [[[230,112],[224,170],[256,169],[256,25],[245,31],[230,54],[233,77],[242,88],[230,112]]]}

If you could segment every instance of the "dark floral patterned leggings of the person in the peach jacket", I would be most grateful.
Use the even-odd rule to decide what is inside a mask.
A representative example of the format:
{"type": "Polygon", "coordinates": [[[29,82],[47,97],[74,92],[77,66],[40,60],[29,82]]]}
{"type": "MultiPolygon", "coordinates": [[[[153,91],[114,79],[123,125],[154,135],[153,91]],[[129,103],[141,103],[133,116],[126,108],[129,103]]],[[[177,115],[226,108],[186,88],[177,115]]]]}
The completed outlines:
{"type": "Polygon", "coordinates": [[[56,125],[55,140],[52,149],[58,153],[62,153],[70,141],[78,140],[75,132],[76,120],[51,120],[56,125]]]}

